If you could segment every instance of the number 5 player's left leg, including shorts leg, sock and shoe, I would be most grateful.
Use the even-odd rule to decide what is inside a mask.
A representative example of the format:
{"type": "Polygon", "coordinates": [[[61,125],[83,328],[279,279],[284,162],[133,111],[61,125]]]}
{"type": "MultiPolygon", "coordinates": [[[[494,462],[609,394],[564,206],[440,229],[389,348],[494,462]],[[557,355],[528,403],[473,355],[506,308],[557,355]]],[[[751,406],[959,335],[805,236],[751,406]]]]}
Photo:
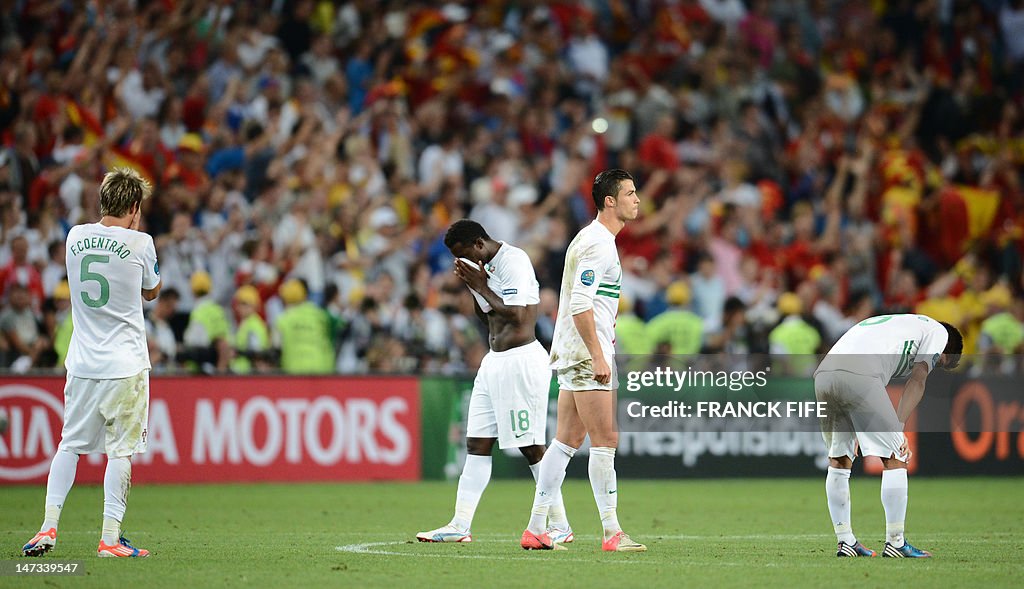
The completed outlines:
{"type": "Polygon", "coordinates": [[[69,376],[65,384],[65,423],[46,477],[43,523],[39,533],[22,547],[26,556],[41,556],[56,545],[60,511],[75,483],[78,457],[102,449],[104,420],[89,389],[90,382],[69,376]]]}

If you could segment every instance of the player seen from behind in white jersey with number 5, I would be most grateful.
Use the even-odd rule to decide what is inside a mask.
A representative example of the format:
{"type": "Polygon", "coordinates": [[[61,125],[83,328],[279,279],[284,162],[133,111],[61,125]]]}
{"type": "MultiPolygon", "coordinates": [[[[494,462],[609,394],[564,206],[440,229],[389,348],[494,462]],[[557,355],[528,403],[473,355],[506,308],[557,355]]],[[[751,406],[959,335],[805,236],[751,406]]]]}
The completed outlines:
{"type": "Polygon", "coordinates": [[[153,238],[138,230],[153,188],[138,172],[116,169],[99,185],[97,223],[72,227],[68,282],[75,324],[65,366],[65,423],[46,480],[43,525],[23,547],[40,556],[56,544],[65,500],[82,454],[106,454],[103,524],[97,554],[148,556],[121,536],[131,487],[131,457],[145,452],[150,412],[150,348],[142,299],[160,293],[153,238]]]}

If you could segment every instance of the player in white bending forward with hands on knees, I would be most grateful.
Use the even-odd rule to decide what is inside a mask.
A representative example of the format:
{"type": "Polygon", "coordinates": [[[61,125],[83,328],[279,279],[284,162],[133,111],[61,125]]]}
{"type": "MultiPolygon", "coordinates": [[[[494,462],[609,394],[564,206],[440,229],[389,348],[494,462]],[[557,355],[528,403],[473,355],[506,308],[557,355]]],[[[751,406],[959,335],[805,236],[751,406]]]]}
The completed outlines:
{"type": "Polygon", "coordinates": [[[850,522],[850,469],[857,445],[862,456],[882,459],[882,506],[886,512],[883,556],[931,556],[903,537],[906,517],[906,465],[910,452],[903,424],[921,403],[934,368],[959,364],[964,338],[955,327],[923,314],[866,319],[836,342],[814,372],[814,393],[828,404],[821,435],[828,448],[825,498],[839,542],[837,556],[874,556],[857,541],[850,522]],[[886,392],[892,378],[909,377],[899,407],[886,392]]]}

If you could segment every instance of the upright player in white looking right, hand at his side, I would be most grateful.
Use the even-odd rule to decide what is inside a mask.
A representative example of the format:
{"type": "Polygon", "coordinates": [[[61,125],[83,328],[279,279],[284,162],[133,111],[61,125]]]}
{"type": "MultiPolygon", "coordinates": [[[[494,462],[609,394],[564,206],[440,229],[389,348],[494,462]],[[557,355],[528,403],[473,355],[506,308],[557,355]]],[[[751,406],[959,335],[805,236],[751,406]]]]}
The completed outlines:
{"type": "Polygon", "coordinates": [[[558,430],[541,461],[529,524],[520,546],[555,547],[545,519],[558,496],[569,459],[590,434],[590,483],[604,529],[602,549],[641,552],[647,548],[623,532],[616,514],[614,424],[614,330],[623,270],[615,236],[637,218],[640,198],[633,176],[606,170],[594,178],[597,218],[569,243],[565,253],[551,368],[558,377],[558,430]]]}

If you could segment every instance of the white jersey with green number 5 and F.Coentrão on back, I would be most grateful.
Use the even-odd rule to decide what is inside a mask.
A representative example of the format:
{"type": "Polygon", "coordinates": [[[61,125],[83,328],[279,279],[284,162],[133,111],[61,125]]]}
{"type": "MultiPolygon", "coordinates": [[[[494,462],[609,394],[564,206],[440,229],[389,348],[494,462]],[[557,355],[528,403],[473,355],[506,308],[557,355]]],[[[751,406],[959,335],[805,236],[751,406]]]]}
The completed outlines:
{"type": "Polygon", "coordinates": [[[67,264],[75,325],[68,373],[113,379],[151,368],[141,291],[160,284],[153,238],[99,223],[76,225],[68,233],[67,264]]]}

